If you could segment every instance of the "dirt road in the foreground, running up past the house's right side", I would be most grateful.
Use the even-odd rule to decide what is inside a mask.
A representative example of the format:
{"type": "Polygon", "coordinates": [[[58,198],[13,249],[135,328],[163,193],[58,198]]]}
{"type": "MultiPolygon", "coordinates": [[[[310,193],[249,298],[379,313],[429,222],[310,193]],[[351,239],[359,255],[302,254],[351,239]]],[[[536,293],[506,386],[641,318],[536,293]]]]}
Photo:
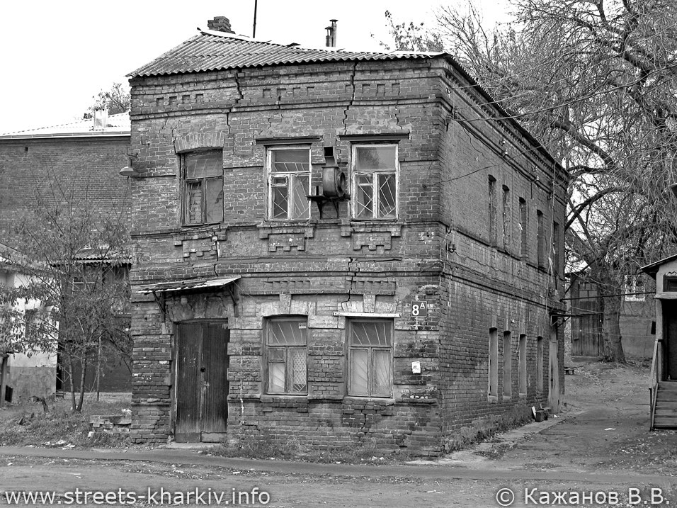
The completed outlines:
{"type": "MultiPolygon", "coordinates": [[[[29,506],[77,504],[76,495],[82,502],[89,491],[87,506],[146,507],[160,501],[204,506],[219,504],[220,498],[222,505],[239,500],[276,508],[392,508],[498,507],[499,501],[511,501],[510,492],[501,491],[510,489],[511,506],[668,507],[677,504],[677,435],[647,431],[647,374],[637,367],[580,368],[567,376],[568,407],[559,418],[435,463],[312,464],[228,459],[185,449],[4,447],[0,492],[59,495],[54,502],[29,506]],[[195,497],[196,488],[202,497],[195,497]],[[111,502],[95,499],[94,491],[107,492],[111,502]]],[[[0,494],[0,504],[5,502],[0,494]]]]}

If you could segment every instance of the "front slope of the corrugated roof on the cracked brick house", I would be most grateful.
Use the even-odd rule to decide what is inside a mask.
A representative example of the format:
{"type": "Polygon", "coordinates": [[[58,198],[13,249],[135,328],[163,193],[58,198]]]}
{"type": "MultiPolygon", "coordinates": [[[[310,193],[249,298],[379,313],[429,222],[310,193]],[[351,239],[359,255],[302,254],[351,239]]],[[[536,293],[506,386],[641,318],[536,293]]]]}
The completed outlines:
{"type": "Polygon", "coordinates": [[[435,55],[442,55],[442,53],[373,53],[334,50],[333,48],[315,50],[296,45],[254,40],[230,33],[201,30],[198,35],[136,69],[129,76],[159,76],[310,62],[416,59],[435,55]]]}

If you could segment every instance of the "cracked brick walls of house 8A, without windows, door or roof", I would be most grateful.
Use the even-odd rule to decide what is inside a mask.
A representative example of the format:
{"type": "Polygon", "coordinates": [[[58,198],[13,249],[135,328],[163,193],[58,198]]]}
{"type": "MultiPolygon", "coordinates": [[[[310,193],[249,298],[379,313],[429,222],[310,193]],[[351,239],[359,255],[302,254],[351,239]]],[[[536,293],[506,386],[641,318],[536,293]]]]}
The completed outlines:
{"type": "MultiPolygon", "coordinates": [[[[491,174],[499,189],[507,186],[511,203],[528,198],[530,245],[536,209],[547,213],[547,224],[564,222],[566,181],[557,172],[553,181],[552,161],[514,125],[464,123],[476,110],[486,114],[482,101],[441,59],[132,79],[131,145],[142,171],[132,184],[138,254],[132,284],[240,277],[233,298],[189,293],[181,302],[167,300],[164,313],[152,298],[132,296],[135,439],[163,441],[173,432],[173,376],[181,368],[173,329],[193,319],[228,320],[233,443],[296,437],[315,446],[371,442],[438,455],[465,424],[545,402],[547,383],[537,390],[533,373],[535,337],[549,337],[561,282],[536,266],[535,252],[520,256],[518,205],[506,216],[508,241],[489,246],[487,179],[491,174]],[[351,220],[347,201],[332,218],[321,218],[312,205],[307,222],[266,219],[267,147],[301,138],[310,147],[315,186],[323,147],[336,147],[339,166],[350,172],[359,135],[397,143],[397,220],[351,220]],[[223,223],[182,227],[180,155],[214,147],[223,149],[223,223]],[[426,317],[411,315],[414,300],[428,302],[426,317]],[[351,312],[397,315],[392,397],[347,395],[351,312]],[[307,317],[307,396],[266,393],[263,330],[278,315],[307,317]],[[511,329],[515,343],[520,333],[528,336],[525,397],[487,396],[491,326],[511,329]],[[412,372],[413,362],[421,373],[412,372]]],[[[511,356],[516,362],[516,346],[511,356]]]]}

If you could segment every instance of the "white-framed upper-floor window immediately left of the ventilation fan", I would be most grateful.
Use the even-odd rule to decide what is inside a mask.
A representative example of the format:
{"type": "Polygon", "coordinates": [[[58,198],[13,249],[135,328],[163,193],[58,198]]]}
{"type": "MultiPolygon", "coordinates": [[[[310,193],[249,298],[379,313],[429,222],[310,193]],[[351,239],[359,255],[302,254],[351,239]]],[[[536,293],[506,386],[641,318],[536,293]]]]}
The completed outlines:
{"type": "Polygon", "coordinates": [[[310,218],[310,149],[268,150],[268,218],[310,218]]]}

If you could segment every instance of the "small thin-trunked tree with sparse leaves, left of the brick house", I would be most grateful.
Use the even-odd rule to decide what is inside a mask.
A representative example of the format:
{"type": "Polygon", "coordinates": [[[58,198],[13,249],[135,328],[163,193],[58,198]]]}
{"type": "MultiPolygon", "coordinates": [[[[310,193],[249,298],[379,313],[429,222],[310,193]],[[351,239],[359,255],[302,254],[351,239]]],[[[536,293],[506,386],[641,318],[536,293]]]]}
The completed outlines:
{"type": "Polygon", "coordinates": [[[129,232],[125,213],[99,209],[81,183],[50,183],[50,195],[38,195],[16,223],[14,249],[4,254],[26,281],[0,288],[0,339],[12,351],[58,351],[79,412],[87,368],[101,358],[102,344],[118,356],[131,353],[121,320],[129,300],[129,232]],[[23,302],[40,303],[30,320],[23,302]]]}

